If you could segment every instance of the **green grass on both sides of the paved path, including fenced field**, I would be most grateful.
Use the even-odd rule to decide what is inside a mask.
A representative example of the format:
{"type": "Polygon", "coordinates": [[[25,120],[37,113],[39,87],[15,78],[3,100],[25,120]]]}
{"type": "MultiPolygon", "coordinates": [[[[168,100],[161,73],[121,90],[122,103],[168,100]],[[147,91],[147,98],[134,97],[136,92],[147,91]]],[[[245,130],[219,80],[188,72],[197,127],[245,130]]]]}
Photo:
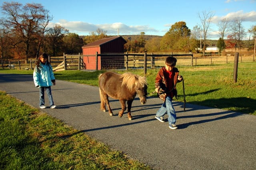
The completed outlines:
{"type": "MultiPolygon", "coordinates": [[[[256,62],[238,64],[236,83],[233,67],[231,63],[178,67],[184,77],[187,103],[256,115],[256,62]]],[[[144,75],[141,69],[129,71],[144,75]]],[[[98,75],[102,72],[58,71],[54,74],[57,81],[98,86],[98,75]]],[[[147,70],[148,93],[154,91],[157,72],[158,69],[147,70]]],[[[32,71],[0,69],[0,73],[32,74],[32,71]]],[[[177,101],[182,102],[182,83],[178,83],[177,89],[177,101]]],[[[150,169],[76,132],[0,92],[1,169],[150,169]]]]}

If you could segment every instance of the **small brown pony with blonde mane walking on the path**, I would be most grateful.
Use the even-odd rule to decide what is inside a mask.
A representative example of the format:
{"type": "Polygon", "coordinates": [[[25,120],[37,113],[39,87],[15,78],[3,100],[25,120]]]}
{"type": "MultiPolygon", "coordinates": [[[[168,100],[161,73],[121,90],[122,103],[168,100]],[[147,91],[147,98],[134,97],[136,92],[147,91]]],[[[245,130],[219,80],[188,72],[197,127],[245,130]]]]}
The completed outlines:
{"type": "Polygon", "coordinates": [[[121,75],[108,71],[99,75],[99,87],[100,109],[106,112],[107,105],[110,116],[113,115],[113,112],[110,108],[108,97],[119,99],[122,107],[118,114],[119,117],[123,116],[127,101],[129,120],[132,120],[131,107],[136,94],[138,94],[142,105],[146,103],[146,95],[148,94],[146,77],[140,77],[132,73],[121,75]]]}

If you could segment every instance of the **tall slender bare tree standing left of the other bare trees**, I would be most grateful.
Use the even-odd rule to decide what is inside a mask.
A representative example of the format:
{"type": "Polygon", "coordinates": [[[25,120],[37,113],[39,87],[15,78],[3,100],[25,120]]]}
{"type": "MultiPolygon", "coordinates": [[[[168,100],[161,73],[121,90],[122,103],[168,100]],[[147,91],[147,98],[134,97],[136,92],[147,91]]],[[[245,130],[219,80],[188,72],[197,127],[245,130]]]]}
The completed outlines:
{"type": "Polygon", "coordinates": [[[214,13],[213,12],[207,12],[207,11],[203,11],[201,14],[198,13],[198,17],[200,19],[201,22],[201,30],[203,31],[203,55],[205,52],[205,48],[206,48],[206,37],[207,37],[207,32],[208,29],[210,28],[210,24],[212,22],[212,19],[214,17],[214,13]]]}

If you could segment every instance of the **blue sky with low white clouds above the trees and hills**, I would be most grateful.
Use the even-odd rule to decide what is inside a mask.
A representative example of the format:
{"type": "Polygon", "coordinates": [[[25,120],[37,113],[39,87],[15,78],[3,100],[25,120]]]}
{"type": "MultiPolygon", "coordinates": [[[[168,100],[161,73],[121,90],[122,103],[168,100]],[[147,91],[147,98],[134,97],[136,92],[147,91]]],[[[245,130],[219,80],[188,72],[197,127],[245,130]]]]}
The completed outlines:
{"type": "MultiPolygon", "coordinates": [[[[0,5],[5,0],[0,0],[0,5]]],[[[198,14],[214,13],[209,39],[218,39],[216,23],[223,18],[242,18],[247,32],[256,25],[256,0],[13,0],[22,4],[39,3],[53,20],[80,36],[100,28],[107,35],[164,36],[175,22],[184,21],[190,30],[200,25],[198,14]]],[[[11,2],[11,1],[7,1],[11,2]]],[[[246,36],[249,37],[249,34],[246,36]]]]}

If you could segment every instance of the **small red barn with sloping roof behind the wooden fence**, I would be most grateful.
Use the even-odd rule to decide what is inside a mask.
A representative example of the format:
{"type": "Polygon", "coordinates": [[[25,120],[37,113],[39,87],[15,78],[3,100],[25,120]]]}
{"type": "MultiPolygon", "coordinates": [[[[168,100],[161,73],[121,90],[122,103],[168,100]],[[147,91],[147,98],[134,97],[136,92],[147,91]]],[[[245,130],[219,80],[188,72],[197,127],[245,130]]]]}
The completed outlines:
{"type": "MultiPolygon", "coordinates": [[[[121,36],[103,38],[96,42],[82,46],[83,55],[124,53],[124,44],[127,43],[121,36]]],[[[96,69],[95,56],[85,56],[86,69],[96,69]]],[[[98,56],[98,69],[123,69],[124,56],[98,56]]]]}

